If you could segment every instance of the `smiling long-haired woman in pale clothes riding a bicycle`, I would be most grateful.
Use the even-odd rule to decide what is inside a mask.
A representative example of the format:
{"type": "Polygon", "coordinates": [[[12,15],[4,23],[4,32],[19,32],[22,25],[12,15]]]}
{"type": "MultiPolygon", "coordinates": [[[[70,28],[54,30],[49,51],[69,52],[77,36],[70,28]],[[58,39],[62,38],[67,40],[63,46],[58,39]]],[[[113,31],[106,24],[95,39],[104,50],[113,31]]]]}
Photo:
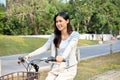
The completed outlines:
{"type": "Polygon", "coordinates": [[[54,33],[51,34],[48,41],[25,57],[30,58],[51,48],[51,56],[55,57],[56,63],[48,73],[46,80],[73,80],[77,73],[78,40],[79,33],[73,31],[68,13],[60,12],[54,17],[54,33]]]}

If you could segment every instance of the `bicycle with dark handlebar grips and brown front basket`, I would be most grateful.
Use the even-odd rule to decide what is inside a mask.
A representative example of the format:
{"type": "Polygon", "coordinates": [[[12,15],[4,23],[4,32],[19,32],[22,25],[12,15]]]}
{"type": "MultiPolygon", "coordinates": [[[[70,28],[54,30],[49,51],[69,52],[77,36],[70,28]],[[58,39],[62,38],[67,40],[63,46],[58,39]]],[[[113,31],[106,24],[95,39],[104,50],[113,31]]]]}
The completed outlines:
{"type": "Polygon", "coordinates": [[[18,64],[22,64],[26,71],[13,72],[0,77],[0,80],[41,80],[39,65],[40,62],[56,62],[54,57],[27,60],[24,57],[18,58],[18,64]]]}

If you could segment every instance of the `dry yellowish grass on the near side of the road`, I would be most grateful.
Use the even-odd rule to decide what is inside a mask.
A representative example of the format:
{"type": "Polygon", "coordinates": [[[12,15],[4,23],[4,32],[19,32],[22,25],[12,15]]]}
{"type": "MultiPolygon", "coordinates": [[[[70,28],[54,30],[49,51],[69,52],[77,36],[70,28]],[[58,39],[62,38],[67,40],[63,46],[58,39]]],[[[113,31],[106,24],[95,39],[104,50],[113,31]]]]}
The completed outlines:
{"type": "MultiPolygon", "coordinates": [[[[97,74],[113,69],[120,69],[120,53],[80,61],[74,80],[88,80],[97,74]]],[[[41,72],[41,80],[45,80],[47,72],[48,71],[41,72]]]]}

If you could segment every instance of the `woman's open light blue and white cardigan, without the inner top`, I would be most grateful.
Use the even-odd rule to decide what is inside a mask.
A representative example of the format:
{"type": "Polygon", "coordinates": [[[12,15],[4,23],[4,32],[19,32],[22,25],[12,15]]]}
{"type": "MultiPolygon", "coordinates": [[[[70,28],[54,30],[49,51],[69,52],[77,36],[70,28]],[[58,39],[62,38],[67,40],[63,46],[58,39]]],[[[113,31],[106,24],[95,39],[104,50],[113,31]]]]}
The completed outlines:
{"type": "MultiPolygon", "coordinates": [[[[29,56],[35,56],[41,53],[46,52],[48,49],[51,49],[51,56],[55,56],[55,46],[53,43],[54,39],[54,34],[52,33],[48,41],[40,48],[36,49],[35,51],[31,52],[29,56]]],[[[71,35],[69,36],[69,45],[66,47],[65,51],[63,52],[63,57],[66,59],[69,57],[68,63],[69,66],[77,64],[76,60],[76,49],[77,49],[77,44],[79,40],[79,33],[76,31],[73,31],[71,35]]]]}

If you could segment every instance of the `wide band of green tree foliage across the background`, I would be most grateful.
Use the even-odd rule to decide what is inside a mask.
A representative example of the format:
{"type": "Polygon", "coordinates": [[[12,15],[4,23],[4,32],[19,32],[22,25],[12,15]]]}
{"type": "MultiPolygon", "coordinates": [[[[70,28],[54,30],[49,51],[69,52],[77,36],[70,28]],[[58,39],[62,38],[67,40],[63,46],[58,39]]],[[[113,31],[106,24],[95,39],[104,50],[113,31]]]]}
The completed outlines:
{"type": "Polygon", "coordinates": [[[69,12],[80,33],[120,33],[119,0],[10,0],[5,14],[0,11],[0,34],[50,34],[60,11],[69,12]]]}

